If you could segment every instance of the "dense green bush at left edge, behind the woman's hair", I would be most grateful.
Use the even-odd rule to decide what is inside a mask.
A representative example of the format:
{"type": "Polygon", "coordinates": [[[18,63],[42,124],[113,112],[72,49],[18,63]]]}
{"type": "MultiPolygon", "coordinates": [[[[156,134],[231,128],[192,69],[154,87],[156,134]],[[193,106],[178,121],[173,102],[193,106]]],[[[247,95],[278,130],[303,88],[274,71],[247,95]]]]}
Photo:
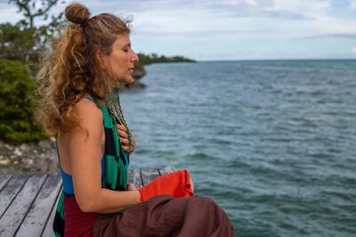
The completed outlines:
{"type": "Polygon", "coordinates": [[[23,63],[0,60],[0,140],[17,144],[47,138],[33,115],[35,87],[23,63]]]}

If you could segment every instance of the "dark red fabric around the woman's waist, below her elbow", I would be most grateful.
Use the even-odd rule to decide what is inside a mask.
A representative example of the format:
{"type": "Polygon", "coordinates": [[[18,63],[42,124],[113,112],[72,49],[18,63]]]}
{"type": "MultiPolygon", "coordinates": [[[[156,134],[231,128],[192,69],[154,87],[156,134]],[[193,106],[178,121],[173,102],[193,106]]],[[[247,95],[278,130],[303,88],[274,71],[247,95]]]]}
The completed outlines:
{"type": "Polygon", "coordinates": [[[93,236],[93,225],[97,217],[96,213],[83,212],[74,196],[64,196],[64,236],[93,236]]]}

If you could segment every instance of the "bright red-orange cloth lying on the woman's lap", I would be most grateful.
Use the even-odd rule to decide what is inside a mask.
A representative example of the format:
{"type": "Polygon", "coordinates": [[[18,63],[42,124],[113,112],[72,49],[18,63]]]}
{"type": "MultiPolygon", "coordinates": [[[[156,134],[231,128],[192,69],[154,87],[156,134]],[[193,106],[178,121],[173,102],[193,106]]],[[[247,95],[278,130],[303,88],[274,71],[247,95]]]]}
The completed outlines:
{"type": "Polygon", "coordinates": [[[151,181],[150,184],[142,186],[139,192],[142,201],[162,194],[168,194],[174,198],[193,196],[190,174],[185,169],[159,176],[151,181]]]}

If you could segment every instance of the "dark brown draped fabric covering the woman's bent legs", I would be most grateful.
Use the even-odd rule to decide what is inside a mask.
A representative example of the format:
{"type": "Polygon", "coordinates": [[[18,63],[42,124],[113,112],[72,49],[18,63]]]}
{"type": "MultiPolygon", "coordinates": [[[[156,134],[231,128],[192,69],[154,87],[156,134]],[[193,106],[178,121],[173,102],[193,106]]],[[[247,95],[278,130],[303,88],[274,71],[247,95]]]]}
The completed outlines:
{"type": "Polygon", "coordinates": [[[123,214],[100,214],[93,236],[235,236],[229,217],[214,200],[197,195],[158,195],[123,214]]]}

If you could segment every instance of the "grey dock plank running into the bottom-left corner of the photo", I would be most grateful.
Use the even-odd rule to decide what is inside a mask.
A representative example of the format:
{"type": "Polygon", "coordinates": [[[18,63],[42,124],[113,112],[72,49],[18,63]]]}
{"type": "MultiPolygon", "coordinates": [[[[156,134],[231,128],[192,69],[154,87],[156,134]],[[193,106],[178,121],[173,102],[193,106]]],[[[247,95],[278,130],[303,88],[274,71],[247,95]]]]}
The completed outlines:
{"type": "Polygon", "coordinates": [[[4,216],[0,219],[0,236],[13,236],[16,233],[46,177],[47,175],[28,178],[26,184],[12,201],[11,206],[6,209],[4,216]]]}

